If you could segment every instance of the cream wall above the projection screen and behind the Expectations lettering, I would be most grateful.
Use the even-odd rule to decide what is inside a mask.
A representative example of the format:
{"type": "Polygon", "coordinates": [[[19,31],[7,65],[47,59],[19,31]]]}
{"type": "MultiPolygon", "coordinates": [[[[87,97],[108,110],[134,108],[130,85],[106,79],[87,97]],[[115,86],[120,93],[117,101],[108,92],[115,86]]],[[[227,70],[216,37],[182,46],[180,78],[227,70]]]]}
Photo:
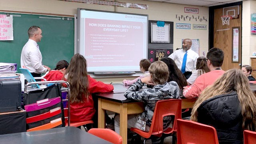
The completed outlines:
{"type": "MultiPolygon", "coordinates": [[[[111,1],[111,0],[109,0],[111,1]]],[[[114,1],[114,0],[113,0],[114,1]]],[[[80,2],[67,2],[60,0],[1,0],[0,10],[13,10],[23,12],[39,12],[48,14],[66,14],[74,15],[77,13],[77,8],[87,8],[94,10],[107,10],[116,12],[128,12],[137,14],[148,14],[148,20],[160,20],[174,22],[174,50],[182,47],[182,39],[199,39],[200,52],[199,55],[203,56],[202,52],[208,52],[208,21],[209,21],[209,8],[202,6],[189,6],[181,4],[169,4],[163,2],[152,2],[144,0],[116,0],[118,2],[146,4],[148,9],[138,8],[125,8],[118,6],[106,6],[100,4],[86,4],[80,2]],[[198,8],[199,14],[185,13],[184,7],[198,8]],[[191,17],[191,20],[178,20],[176,17],[191,17]],[[194,18],[202,18],[202,22],[194,18]],[[191,24],[191,29],[176,29],[176,23],[191,24]],[[192,24],[203,24],[207,26],[206,30],[194,30],[192,24]]],[[[44,57],[44,56],[43,56],[44,57]]],[[[131,79],[131,78],[127,78],[131,79]]],[[[112,80],[109,80],[112,81],[112,80]]],[[[108,81],[108,82],[109,82],[108,81]]],[[[119,80],[118,80],[119,82],[119,80]]]]}

